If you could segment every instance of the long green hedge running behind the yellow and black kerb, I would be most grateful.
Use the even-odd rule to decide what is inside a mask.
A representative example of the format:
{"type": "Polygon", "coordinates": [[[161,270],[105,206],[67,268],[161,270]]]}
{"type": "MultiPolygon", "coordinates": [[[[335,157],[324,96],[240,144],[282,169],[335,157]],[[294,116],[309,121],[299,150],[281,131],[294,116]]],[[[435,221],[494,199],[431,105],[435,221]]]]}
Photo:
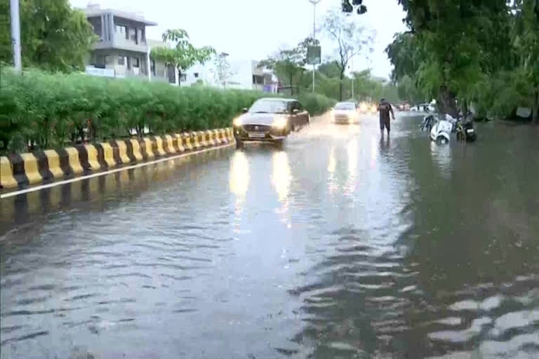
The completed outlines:
{"type": "MultiPolygon", "coordinates": [[[[165,134],[230,126],[244,107],[268,94],[204,86],[103,79],[85,74],[37,70],[0,78],[0,151],[60,147],[81,140],[165,134]],[[27,144],[30,144],[27,148],[27,144]]],[[[300,95],[311,114],[334,104],[321,95],[300,95]]]]}

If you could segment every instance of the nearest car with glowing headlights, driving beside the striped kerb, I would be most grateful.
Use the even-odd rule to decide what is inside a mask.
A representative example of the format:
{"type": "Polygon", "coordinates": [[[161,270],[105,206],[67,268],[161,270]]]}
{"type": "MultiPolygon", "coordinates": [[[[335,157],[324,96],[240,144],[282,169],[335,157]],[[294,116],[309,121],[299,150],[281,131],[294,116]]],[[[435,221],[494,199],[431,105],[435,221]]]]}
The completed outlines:
{"type": "Polygon", "coordinates": [[[241,148],[248,141],[282,144],[292,131],[299,130],[310,121],[309,112],[298,100],[262,98],[232,121],[236,147],[241,148]]]}

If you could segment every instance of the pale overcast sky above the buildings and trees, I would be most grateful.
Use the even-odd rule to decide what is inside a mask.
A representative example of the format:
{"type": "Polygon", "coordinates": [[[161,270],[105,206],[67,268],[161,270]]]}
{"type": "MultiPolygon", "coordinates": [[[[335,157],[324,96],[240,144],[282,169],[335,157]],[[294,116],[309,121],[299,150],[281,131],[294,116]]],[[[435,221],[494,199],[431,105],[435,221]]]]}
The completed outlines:
{"type": "MultiPolygon", "coordinates": [[[[308,0],[91,0],[101,8],[141,13],[157,22],[147,27],[147,38],[161,39],[166,29],[185,29],[196,46],[212,46],[234,59],[262,60],[279,48],[295,46],[312,34],[312,4],[308,0]]],[[[368,12],[354,20],[376,32],[371,61],[354,60],[354,70],[371,67],[375,76],[389,77],[391,64],[384,49],[395,32],[405,30],[404,12],[397,0],[365,0],[368,12]]],[[[84,8],[88,0],[71,0],[84,8]]],[[[317,21],[340,0],[321,0],[317,21]]],[[[322,57],[333,47],[322,41],[322,57]]]]}

